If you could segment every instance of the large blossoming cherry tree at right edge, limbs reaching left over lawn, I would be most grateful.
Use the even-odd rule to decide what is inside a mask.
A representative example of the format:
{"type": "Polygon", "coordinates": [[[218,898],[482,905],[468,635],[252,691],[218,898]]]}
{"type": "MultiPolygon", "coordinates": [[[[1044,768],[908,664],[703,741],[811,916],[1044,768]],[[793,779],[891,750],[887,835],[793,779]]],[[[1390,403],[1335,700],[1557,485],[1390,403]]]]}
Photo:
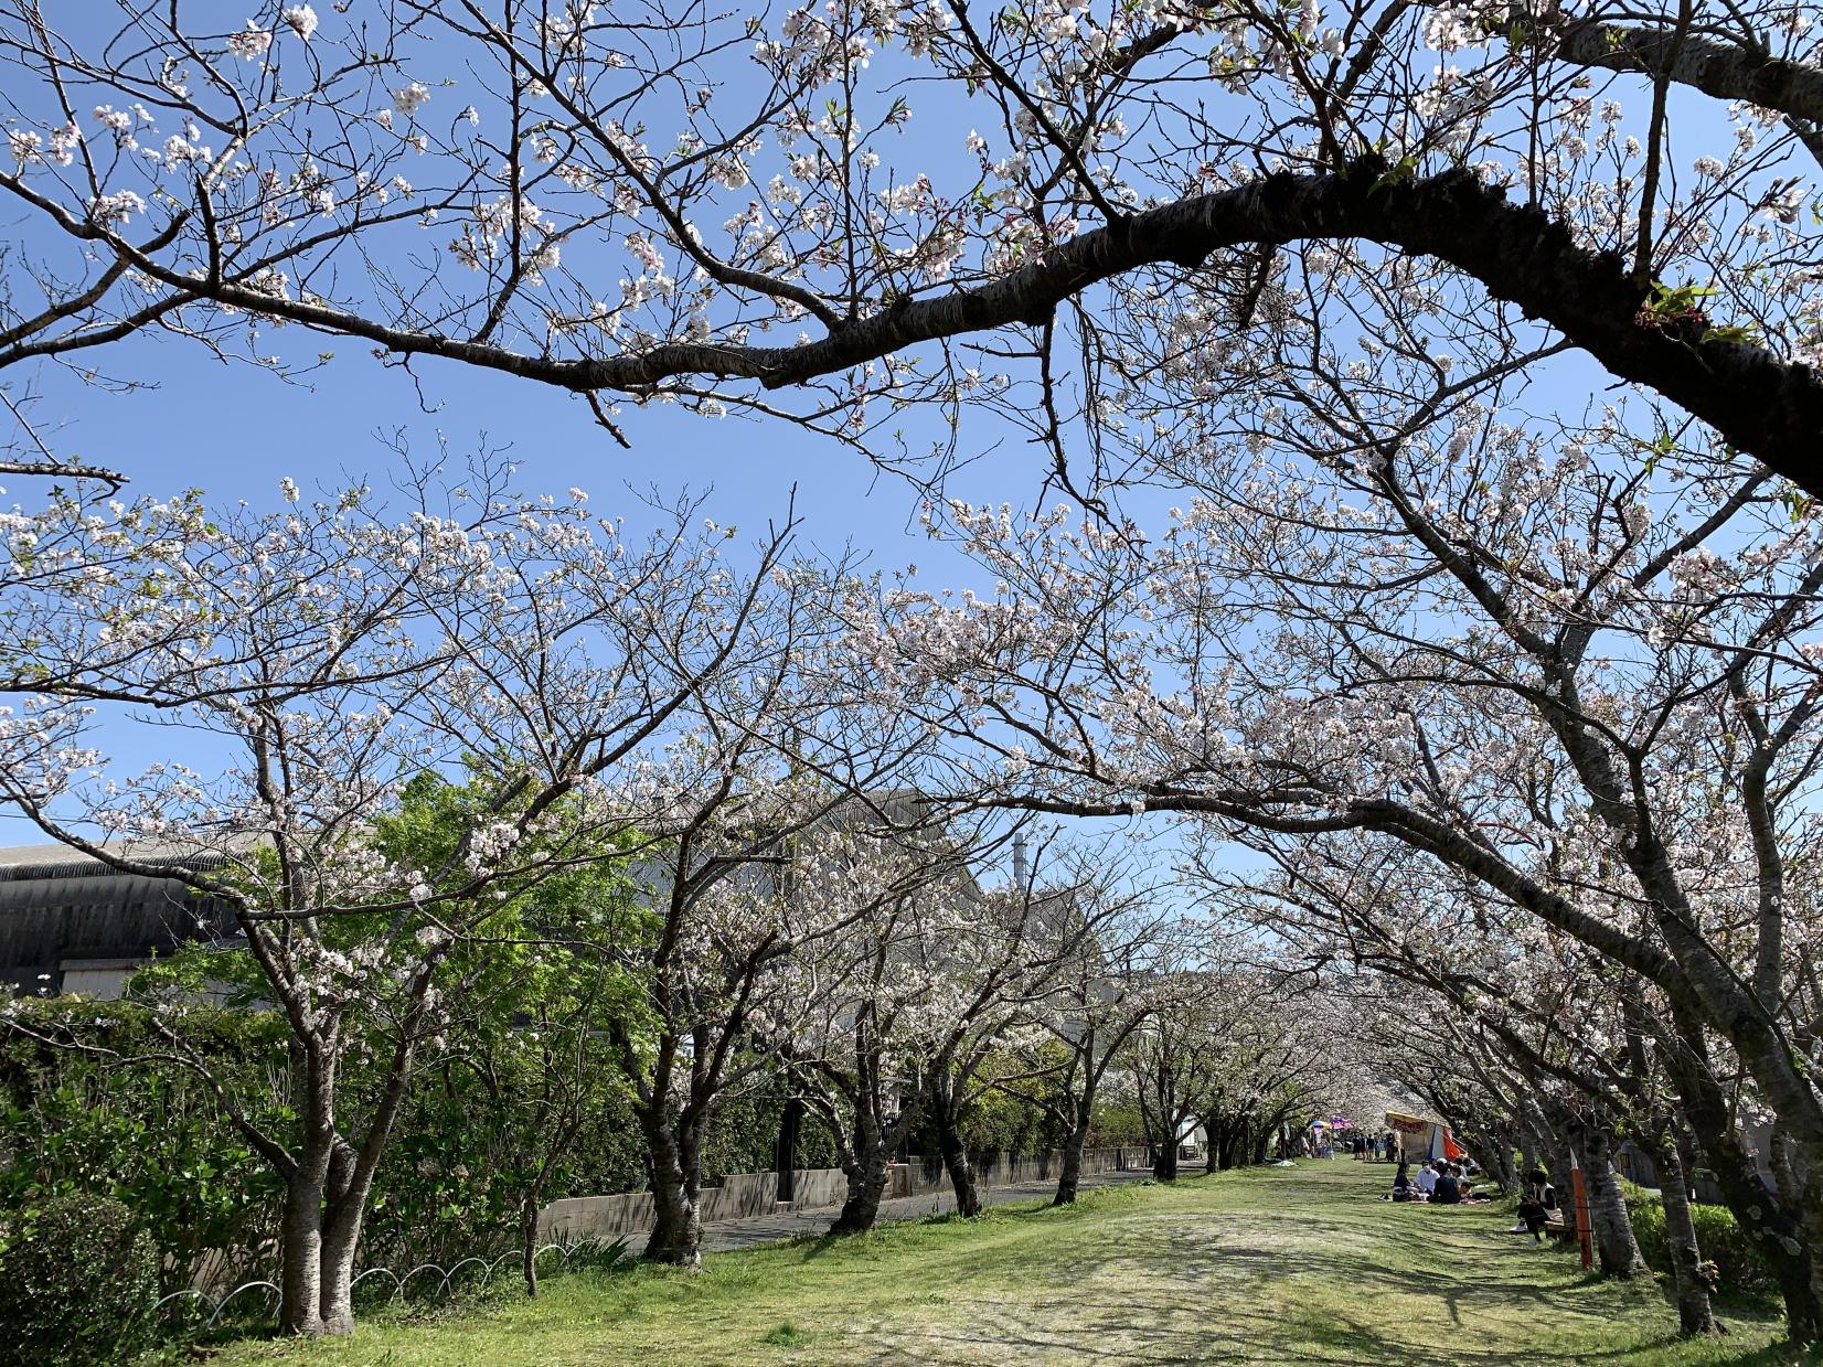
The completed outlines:
{"type": "MultiPolygon", "coordinates": [[[[1385,394],[1398,441],[1364,390],[1262,414],[1293,450],[1245,470],[1183,452],[1198,499],[1154,541],[933,510],[1001,589],[882,596],[882,676],[961,696],[955,744],[1014,806],[1194,817],[1293,869],[1325,842],[1353,842],[1344,871],[1395,848],[1466,879],[1528,942],[1570,935],[1663,993],[1686,1108],[1714,1110],[1726,1050],[1779,1143],[1823,1157],[1808,503],[1621,410],[1562,432],[1433,397],[1385,394]]],[[[1703,1128],[1730,1167],[1726,1106],[1703,1128]]],[[[1743,1203],[1810,1269],[1799,1336],[1823,1305],[1819,1170],[1743,1203]]]]}

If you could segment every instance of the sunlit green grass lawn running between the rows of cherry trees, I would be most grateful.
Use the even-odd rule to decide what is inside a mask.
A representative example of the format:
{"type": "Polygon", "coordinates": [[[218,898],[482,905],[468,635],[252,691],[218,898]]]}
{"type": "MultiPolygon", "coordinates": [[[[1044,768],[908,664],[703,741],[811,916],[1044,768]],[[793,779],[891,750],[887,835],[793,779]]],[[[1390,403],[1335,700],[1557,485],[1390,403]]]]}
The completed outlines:
{"type": "Polygon", "coordinates": [[[1681,1343],[1652,1285],[1590,1280],[1506,1207],[1395,1207],[1389,1168],[1305,1163],[1003,1207],[842,1241],[716,1254],[698,1274],[551,1280],[538,1301],[368,1318],[222,1363],[1774,1363],[1779,1323],[1681,1343]]]}

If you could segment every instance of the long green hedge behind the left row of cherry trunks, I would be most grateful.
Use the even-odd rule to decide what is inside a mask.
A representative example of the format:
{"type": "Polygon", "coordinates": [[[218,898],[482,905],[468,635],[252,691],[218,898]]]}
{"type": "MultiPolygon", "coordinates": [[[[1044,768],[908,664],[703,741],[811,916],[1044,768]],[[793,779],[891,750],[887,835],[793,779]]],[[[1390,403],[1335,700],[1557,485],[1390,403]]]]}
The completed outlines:
{"type": "MultiPolygon", "coordinates": [[[[153,1044],[140,1004],[64,1002],[58,1012],[84,1039],[124,1055],[153,1044]]],[[[268,1012],[197,1008],[186,1032],[222,1077],[266,1108],[255,1119],[284,1132],[283,1023],[268,1012]]],[[[487,1079],[492,1090],[461,1061],[412,1079],[365,1221],[363,1267],[447,1265],[518,1238],[525,1168],[536,1159],[518,1112],[536,1079],[527,1075],[530,1059],[501,1050],[500,1061],[505,1072],[487,1079]]],[[[603,1064],[545,1201],[645,1187],[640,1126],[614,1079],[603,1064]]],[[[715,1112],[704,1145],[706,1183],[773,1167],[786,1094],[766,1077],[755,1083],[715,1112]]],[[[350,1061],[346,1086],[350,1106],[368,1090],[359,1061],[350,1061]]],[[[835,1163],[829,1134],[811,1119],[800,1132],[798,1163],[835,1163]]],[[[62,1197],[118,1201],[151,1239],[170,1292],[188,1287],[199,1267],[210,1280],[270,1278],[281,1196],[272,1168],[190,1070],[108,1064],[0,1030],[0,1230],[38,1219],[62,1197]],[[215,1261],[213,1250],[222,1249],[235,1250],[228,1267],[215,1261]]]]}

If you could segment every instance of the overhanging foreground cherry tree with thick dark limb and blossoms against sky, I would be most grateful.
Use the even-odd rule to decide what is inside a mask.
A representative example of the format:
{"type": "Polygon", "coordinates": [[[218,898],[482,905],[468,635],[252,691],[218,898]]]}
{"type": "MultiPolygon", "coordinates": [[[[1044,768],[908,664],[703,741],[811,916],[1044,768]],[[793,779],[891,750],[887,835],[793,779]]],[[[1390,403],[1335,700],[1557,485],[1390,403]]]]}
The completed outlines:
{"type": "Polygon", "coordinates": [[[616,434],[662,399],[871,447],[984,405],[1068,481],[1072,427],[1172,427],[1161,375],[1245,414],[1329,348],[1497,339],[1499,375],[1575,348],[1818,490],[1788,0],[11,0],[0,60],[9,375],[131,385],[108,350],[151,330],[295,375],[346,337],[616,434]]]}

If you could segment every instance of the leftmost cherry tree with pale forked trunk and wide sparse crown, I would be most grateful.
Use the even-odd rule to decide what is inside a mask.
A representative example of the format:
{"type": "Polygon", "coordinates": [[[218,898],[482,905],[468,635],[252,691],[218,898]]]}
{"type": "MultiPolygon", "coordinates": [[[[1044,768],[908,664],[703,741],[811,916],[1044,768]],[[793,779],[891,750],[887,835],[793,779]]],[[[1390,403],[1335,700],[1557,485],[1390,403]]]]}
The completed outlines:
{"type": "MultiPolygon", "coordinates": [[[[689,507],[640,543],[580,490],[523,499],[507,478],[4,518],[0,800],[224,904],[288,1026],[295,1121],[219,1099],[284,1183],[292,1332],[352,1327],[374,1176],[474,946],[510,937],[541,879],[662,838],[662,745],[795,638],[802,585],[771,576],[789,527],[749,578],[689,507]],[[135,733],[184,760],[128,773],[97,744],[135,733]],[[436,840],[408,837],[412,786],[439,775],[461,797],[436,840]],[[357,1055],[372,1095],[345,1086],[357,1055]]],[[[170,1061],[213,1077],[182,1015],[166,1004],[170,1061]]]]}

